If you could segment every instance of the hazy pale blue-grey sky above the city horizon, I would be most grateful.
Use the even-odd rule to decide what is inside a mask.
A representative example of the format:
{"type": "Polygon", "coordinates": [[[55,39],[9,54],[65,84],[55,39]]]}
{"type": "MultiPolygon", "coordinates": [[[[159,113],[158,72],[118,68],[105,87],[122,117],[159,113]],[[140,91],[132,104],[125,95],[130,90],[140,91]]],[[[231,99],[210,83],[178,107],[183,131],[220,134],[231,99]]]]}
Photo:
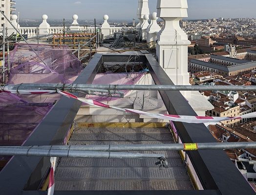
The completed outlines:
{"type": "MultiPolygon", "coordinates": [[[[149,0],[150,12],[156,11],[157,0],[149,0]]],[[[189,19],[256,18],[256,0],[188,0],[189,19]]],[[[16,0],[16,14],[21,19],[132,19],[137,14],[138,0],[16,0]]]]}

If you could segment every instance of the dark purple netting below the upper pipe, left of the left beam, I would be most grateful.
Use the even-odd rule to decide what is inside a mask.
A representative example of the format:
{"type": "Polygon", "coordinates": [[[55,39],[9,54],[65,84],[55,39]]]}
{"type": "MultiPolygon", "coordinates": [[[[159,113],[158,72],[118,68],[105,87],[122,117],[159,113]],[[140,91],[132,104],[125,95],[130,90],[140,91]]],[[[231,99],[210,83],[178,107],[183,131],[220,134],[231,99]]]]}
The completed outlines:
{"type": "Polygon", "coordinates": [[[48,103],[1,103],[0,145],[21,145],[51,107],[48,103]]]}

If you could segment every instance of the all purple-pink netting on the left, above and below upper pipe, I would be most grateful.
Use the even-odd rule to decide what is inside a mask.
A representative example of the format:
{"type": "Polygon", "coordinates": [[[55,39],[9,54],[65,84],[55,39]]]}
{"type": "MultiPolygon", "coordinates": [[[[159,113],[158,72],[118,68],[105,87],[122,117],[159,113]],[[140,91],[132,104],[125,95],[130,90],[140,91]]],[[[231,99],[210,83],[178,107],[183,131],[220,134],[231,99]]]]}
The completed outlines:
{"type": "MultiPolygon", "coordinates": [[[[73,83],[83,70],[68,46],[42,44],[16,44],[10,65],[7,84],[73,83]]],[[[0,93],[0,145],[21,145],[60,97],[0,93]]]]}

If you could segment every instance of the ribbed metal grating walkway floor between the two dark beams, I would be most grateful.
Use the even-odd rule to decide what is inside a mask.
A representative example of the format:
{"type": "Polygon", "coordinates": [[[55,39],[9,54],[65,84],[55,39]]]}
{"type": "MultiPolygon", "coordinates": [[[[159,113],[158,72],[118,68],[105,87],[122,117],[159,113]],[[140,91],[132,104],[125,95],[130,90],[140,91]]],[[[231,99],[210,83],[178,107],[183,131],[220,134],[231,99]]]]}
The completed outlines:
{"type": "MultiPolygon", "coordinates": [[[[173,143],[165,128],[76,129],[70,145],[173,143]]],[[[57,191],[193,190],[178,152],[165,154],[170,168],[159,170],[151,159],[62,158],[55,174],[57,191]]]]}

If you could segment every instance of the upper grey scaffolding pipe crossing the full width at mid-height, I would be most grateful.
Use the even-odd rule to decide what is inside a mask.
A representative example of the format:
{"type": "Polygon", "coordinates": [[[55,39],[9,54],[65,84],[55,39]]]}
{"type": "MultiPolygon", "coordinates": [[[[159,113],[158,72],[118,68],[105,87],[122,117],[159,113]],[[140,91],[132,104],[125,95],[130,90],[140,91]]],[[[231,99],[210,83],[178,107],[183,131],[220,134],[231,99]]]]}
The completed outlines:
{"type": "Polygon", "coordinates": [[[256,91],[256,86],[204,86],[204,85],[103,85],[103,84],[58,84],[58,83],[22,83],[5,87],[38,87],[65,90],[102,89],[102,90],[135,90],[135,91],[256,91]]]}

